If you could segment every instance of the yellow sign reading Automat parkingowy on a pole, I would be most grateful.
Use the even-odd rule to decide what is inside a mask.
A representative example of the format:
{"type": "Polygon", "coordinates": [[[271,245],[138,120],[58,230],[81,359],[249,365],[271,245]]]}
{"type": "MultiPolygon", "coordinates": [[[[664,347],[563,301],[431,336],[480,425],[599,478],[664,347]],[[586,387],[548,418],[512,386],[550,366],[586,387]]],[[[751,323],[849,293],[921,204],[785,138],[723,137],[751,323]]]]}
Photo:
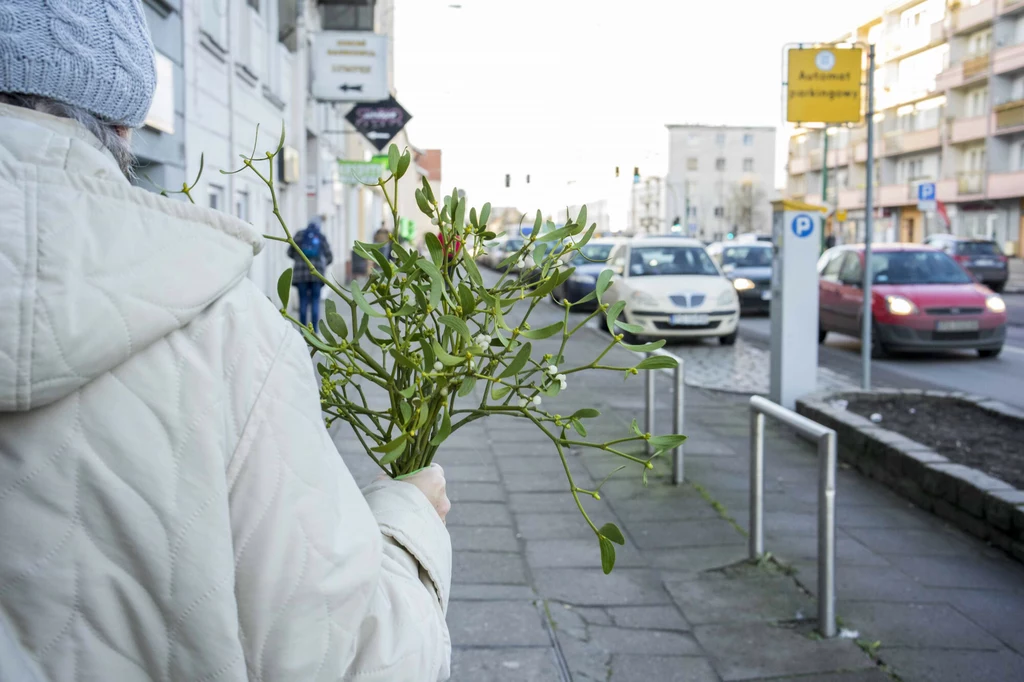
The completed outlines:
{"type": "Polygon", "coordinates": [[[860,48],[792,48],[785,91],[791,123],[859,123],[860,48]]]}

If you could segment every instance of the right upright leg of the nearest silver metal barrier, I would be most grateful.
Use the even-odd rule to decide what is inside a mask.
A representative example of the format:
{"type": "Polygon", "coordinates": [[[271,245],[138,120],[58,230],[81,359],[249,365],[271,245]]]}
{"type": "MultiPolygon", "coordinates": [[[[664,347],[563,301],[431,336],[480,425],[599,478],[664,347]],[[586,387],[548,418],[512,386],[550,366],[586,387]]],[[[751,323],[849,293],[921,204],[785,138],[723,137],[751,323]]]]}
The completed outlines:
{"type": "Polygon", "coordinates": [[[818,627],[836,636],[836,432],[818,438],[818,627]]]}

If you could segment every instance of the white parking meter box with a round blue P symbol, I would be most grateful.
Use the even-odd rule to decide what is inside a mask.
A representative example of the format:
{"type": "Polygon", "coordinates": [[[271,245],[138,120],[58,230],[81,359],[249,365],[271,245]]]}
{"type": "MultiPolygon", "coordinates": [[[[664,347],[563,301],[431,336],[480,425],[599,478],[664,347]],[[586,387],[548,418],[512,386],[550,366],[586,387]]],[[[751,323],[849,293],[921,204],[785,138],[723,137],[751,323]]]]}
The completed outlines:
{"type": "Polygon", "coordinates": [[[783,408],[814,392],[818,377],[818,272],[826,209],[772,202],[770,397],[783,408]]]}

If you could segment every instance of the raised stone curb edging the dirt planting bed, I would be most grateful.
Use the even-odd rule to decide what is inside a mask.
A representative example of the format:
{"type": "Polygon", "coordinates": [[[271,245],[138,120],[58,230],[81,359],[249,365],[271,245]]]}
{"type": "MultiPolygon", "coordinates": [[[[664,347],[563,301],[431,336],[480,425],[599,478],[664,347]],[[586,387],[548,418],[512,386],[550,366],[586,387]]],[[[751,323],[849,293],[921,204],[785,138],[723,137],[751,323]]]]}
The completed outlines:
{"type": "Polygon", "coordinates": [[[1022,421],[1024,411],[979,395],[915,389],[816,393],[797,400],[799,414],[836,431],[840,459],[925,511],[1024,562],[1024,491],[951,462],[925,444],[830,404],[831,400],[858,394],[961,400],[992,415],[1022,421]]]}

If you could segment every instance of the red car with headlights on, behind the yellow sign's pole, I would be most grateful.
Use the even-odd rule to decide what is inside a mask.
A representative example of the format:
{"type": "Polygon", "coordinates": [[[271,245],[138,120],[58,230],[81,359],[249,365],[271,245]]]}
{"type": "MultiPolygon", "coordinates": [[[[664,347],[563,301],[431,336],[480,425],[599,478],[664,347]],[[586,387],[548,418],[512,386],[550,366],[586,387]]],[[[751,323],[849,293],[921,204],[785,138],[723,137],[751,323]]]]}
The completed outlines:
{"type": "MultiPolygon", "coordinates": [[[[818,261],[818,340],[859,337],[864,247],[829,249],[818,261]]],[[[977,350],[995,357],[1007,336],[1007,305],[947,254],[919,244],[880,244],[871,253],[871,354],[977,350]]]]}

